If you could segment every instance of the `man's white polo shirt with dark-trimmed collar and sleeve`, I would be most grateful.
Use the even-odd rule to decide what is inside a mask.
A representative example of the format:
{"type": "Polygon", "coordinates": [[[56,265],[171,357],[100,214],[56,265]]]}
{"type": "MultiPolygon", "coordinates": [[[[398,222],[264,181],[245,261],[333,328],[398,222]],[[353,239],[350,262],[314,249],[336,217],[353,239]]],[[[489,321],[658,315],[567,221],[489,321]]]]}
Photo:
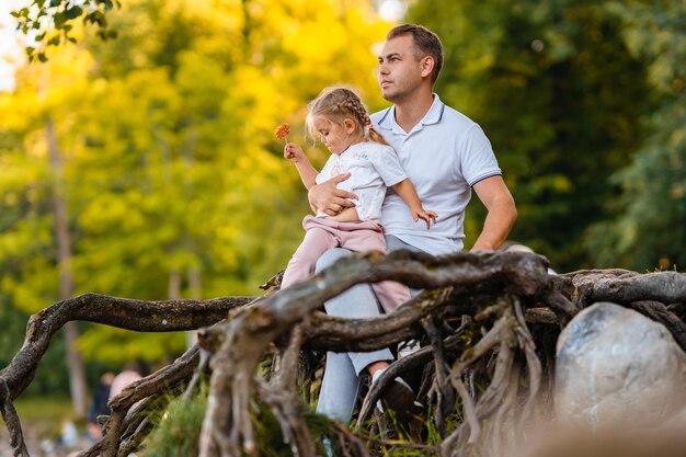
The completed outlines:
{"type": "Polygon", "coordinates": [[[381,209],[386,235],[434,255],[461,250],[471,186],[502,174],[481,127],[446,106],[436,94],[424,118],[409,133],[396,123],[395,106],[370,117],[398,152],[424,209],[438,215],[436,224],[427,230],[423,220],[412,220],[404,202],[389,188],[381,209]]]}

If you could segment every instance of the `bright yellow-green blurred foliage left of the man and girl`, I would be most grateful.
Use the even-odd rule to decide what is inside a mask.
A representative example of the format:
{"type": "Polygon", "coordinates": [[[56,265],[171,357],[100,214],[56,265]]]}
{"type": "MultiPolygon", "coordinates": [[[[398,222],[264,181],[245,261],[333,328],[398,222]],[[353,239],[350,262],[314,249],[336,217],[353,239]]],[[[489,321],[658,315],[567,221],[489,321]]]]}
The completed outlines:
{"type": "MultiPolygon", "coordinates": [[[[24,312],[59,297],[49,121],[75,294],[258,295],[309,212],[274,127],[288,122],[302,141],[307,102],[333,83],[379,107],[373,44],[389,24],[368,0],[127,0],[108,21],[116,39],[75,30],[78,46],[21,68],[15,91],[0,93],[0,290],[24,312]]],[[[323,163],[325,150],[306,149],[323,163]]],[[[87,357],[114,363],[185,344],[84,330],[87,357]]]]}

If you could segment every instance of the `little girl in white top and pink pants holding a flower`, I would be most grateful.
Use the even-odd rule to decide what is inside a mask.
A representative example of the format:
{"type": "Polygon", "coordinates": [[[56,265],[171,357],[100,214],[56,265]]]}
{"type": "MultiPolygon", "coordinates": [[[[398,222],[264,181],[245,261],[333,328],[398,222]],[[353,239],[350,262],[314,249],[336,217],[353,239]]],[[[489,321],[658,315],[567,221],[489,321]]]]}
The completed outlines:
{"type": "MultiPolygon", "coordinates": [[[[309,190],[333,176],[350,172],[351,176],[339,184],[340,188],[357,196],[355,206],[336,216],[318,212],[306,216],[302,227],[305,239],[288,262],[282,288],[302,282],[315,272],[319,256],[331,248],[351,251],[386,252],[384,227],[379,224],[381,204],[387,187],[391,187],[408,204],[415,221],[422,219],[428,229],[436,214],[422,208],[416,191],[405,175],[398,155],[371,126],[367,110],[350,89],[328,88],[308,105],[306,118],[308,133],[319,135],[332,152],[320,173],[315,170],[302,149],[288,142],[284,157],[295,163],[300,179],[309,190]]],[[[396,309],[410,298],[408,288],[393,282],[373,285],[386,312],[396,309]]]]}

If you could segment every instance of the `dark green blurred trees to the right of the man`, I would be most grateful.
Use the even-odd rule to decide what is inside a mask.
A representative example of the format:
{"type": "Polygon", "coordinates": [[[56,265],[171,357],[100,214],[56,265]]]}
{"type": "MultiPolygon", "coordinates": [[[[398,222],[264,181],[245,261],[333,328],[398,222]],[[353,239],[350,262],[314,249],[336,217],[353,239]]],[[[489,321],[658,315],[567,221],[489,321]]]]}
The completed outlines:
{"type": "Polygon", "coordinates": [[[410,9],[446,48],[437,92],[493,142],[519,209],[512,237],[556,269],[686,264],[685,16],[670,1],[410,9]]]}

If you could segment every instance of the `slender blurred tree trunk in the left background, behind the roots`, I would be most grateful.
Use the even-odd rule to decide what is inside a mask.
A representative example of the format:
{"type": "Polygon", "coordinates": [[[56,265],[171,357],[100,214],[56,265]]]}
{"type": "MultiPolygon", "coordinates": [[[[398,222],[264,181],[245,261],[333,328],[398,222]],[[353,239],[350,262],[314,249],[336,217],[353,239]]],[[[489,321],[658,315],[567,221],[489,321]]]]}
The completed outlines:
{"type": "MultiPolygon", "coordinates": [[[[50,167],[55,173],[53,187],[53,214],[55,216],[55,232],[57,236],[57,264],[59,271],[59,298],[65,300],[73,295],[73,275],[71,271],[71,238],[67,218],[65,186],[62,183],[62,163],[55,135],[53,119],[45,119],[50,167]]],[[[76,346],[79,330],[76,322],[65,324],[65,343],[67,346],[67,366],[69,367],[69,389],[73,403],[73,411],[79,416],[85,416],[88,410],[88,387],[81,352],[76,346]]]]}

